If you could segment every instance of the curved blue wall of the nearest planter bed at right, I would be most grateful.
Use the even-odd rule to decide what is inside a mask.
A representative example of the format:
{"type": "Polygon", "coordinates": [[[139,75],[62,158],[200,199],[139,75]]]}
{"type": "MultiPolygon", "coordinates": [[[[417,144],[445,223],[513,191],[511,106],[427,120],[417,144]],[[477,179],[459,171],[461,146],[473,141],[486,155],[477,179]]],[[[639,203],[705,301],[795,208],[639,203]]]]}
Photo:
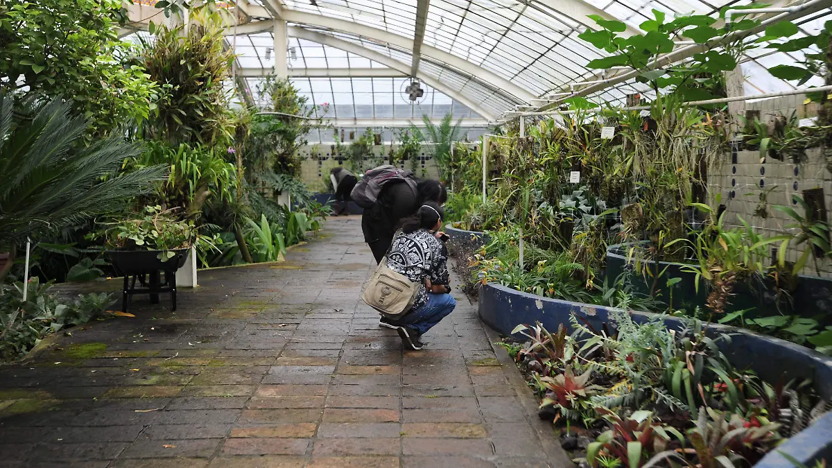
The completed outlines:
{"type": "MultiPolygon", "coordinates": [[[[515,291],[506,286],[489,283],[479,290],[479,316],[493,329],[508,335],[519,324],[533,325],[540,321],[547,330],[557,330],[561,323],[569,331],[569,317],[575,314],[582,317],[590,326],[601,330],[608,321],[609,307],[560,301],[547,297],[535,296],[515,291]]],[[[633,321],[643,323],[656,314],[633,311],[633,321]]],[[[665,324],[673,330],[684,328],[681,318],[667,317],[665,324]]],[[[795,345],[790,341],[771,336],[763,336],[752,331],[734,326],[713,324],[709,333],[730,333],[731,340],[723,343],[722,351],[731,364],[740,369],[755,371],[760,377],[770,382],[788,381],[791,378],[810,378],[815,383],[815,390],[825,400],[832,399],[832,357],[810,350],[805,346],[795,345]]],[[[523,336],[517,335],[518,339],[523,336]]],[[[792,437],[778,450],[795,456],[806,465],[812,466],[815,460],[825,456],[832,459],[832,413],[823,417],[814,426],[792,437]]],[[[756,466],[764,468],[794,468],[783,456],[771,452],[756,466]]]]}

